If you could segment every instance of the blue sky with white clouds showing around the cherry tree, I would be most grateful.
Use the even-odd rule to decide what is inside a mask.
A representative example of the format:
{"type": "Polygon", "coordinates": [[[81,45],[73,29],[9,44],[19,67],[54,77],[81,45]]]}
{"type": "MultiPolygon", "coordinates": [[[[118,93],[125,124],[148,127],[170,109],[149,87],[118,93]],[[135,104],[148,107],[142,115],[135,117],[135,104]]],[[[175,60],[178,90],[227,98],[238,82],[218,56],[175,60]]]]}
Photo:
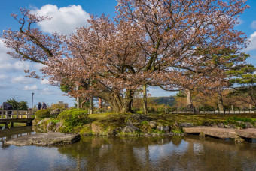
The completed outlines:
{"type": "MultiPolygon", "coordinates": [[[[237,30],[244,31],[251,44],[245,52],[251,55],[248,62],[256,65],[256,1],[248,0],[250,8],[239,17],[240,24],[236,26],[237,30]]],[[[19,13],[20,7],[26,7],[36,13],[47,14],[53,17],[52,23],[41,24],[39,27],[44,32],[59,31],[63,34],[69,34],[75,27],[87,26],[86,19],[88,13],[100,16],[102,13],[114,16],[114,7],[117,5],[115,0],[9,0],[2,1],[0,6],[0,29],[17,29],[18,24],[10,16],[11,13],[19,13]],[[66,16],[66,17],[63,17],[66,16]]],[[[74,98],[62,96],[63,92],[58,87],[50,86],[47,80],[25,78],[24,69],[41,68],[41,65],[31,62],[20,62],[6,54],[5,48],[0,40],[0,104],[10,99],[16,98],[17,101],[28,101],[29,107],[32,104],[32,92],[34,95],[34,104],[44,101],[47,104],[64,101],[70,106],[74,104],[74,98]]],[[[174,92],[164,92],[160,89],[150,88],[152,96],[169,96],[174,92]]]]}

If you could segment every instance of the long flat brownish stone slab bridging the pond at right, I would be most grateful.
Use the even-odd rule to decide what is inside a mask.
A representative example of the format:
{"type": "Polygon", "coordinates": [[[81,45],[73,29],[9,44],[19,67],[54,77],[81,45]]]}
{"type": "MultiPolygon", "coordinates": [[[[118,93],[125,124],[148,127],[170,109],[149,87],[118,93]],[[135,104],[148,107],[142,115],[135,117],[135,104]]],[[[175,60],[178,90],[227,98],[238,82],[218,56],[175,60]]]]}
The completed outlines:
{"type": "Polygon", "coordinates": [[[232,128],[221,127],[183,127],[184,133],[200,133],[201,136],[214,136],[218,138],[256,138],[256,129],[248,128],[244,130],[236,130],[232,128]]]}

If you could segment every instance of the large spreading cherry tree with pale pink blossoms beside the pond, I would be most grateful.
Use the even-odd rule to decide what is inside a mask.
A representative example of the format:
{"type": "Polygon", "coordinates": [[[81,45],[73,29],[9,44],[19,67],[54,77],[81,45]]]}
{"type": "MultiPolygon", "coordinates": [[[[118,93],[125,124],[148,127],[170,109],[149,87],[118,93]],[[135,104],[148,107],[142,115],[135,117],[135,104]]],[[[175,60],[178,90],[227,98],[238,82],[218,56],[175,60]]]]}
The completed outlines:
{"type": "Polygon", "coordinates": [[[245,35],[233,28],[246,8],[244,0],[119,0],[113,20],[91,15],[90,26],[69,37],[32,28],[50,19],[21,10],[20,20],[13,15],[20,30],[10,28],[3,37],[12,57],[44,64],[50,83],[68,85],[69,95],[102,98],[126,113],[145,85],[172,91],[225,85],[221,64],[230,59],[215,54],[239,55],[246,46],[245,35]]]}

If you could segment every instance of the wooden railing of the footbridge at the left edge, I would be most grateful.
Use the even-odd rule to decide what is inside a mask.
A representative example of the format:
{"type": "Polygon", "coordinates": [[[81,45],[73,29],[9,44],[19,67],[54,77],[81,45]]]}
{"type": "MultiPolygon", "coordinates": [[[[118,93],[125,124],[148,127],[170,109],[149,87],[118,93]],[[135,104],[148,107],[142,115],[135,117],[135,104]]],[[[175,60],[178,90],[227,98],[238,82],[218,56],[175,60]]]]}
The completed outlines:
{"type": "Polygon", "coordinates": [[[32,118],[32,110],[0,110],[0,119],[32,118]]]}

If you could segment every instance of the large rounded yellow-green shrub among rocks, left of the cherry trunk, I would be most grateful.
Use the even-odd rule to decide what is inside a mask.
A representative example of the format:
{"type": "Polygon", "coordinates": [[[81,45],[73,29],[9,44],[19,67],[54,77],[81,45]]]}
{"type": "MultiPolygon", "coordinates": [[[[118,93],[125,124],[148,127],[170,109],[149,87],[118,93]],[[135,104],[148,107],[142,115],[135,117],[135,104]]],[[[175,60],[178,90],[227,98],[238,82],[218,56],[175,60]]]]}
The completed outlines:
{"type": "Polygon", "coordinates": [[[83,124],[87,124],[87,110],[65,110],[59,113],[58,118],[62,121],[64,128],[62,132],[72,132],[75,127],[79,127],[83,124]]]}

